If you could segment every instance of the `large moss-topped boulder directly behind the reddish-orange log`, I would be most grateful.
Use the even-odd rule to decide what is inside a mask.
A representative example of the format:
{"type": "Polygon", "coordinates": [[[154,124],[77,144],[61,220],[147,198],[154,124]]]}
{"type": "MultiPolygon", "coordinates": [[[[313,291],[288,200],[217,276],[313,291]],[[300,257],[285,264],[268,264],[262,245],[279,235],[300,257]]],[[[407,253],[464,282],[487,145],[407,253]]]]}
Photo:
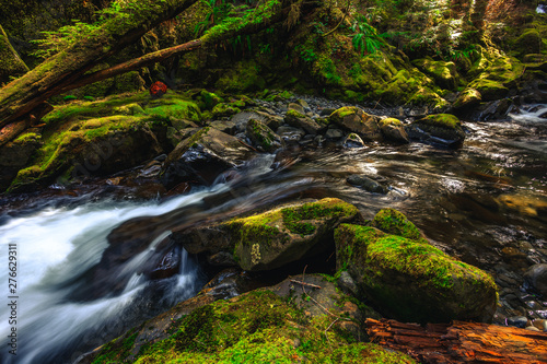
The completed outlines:
{"type": "Polygon", "coordinates": [[[490,321],[493,279],[423,239],[341,224],[335,232],[337,268],[356,281],[361,300],[406,322],[490,321]]]}

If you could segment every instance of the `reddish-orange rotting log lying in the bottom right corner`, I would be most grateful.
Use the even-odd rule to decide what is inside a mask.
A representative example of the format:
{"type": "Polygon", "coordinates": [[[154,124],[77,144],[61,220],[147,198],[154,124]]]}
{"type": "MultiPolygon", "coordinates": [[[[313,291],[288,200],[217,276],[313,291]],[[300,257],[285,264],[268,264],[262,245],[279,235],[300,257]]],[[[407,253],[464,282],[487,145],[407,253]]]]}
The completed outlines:
{"type": "Polygon", "coordinates": [[[372,342],[420,363],[547,363],[547,332],[462,321],[421,327],[371,318],[365,327],[372,342]]]}

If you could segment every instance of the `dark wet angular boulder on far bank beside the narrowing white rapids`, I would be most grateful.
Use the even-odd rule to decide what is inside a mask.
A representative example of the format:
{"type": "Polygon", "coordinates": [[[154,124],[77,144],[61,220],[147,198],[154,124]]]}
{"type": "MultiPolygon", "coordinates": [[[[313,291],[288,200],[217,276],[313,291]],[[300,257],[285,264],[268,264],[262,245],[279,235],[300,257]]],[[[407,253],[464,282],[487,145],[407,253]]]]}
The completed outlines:
{"type": "Polygon", "coordinates": [[[161,180],[167,188],[189,180],[211,185],[222,172],[243,164],[253,155],[237,138],[216,128],[201,128],[168,154],[161,180]]]}

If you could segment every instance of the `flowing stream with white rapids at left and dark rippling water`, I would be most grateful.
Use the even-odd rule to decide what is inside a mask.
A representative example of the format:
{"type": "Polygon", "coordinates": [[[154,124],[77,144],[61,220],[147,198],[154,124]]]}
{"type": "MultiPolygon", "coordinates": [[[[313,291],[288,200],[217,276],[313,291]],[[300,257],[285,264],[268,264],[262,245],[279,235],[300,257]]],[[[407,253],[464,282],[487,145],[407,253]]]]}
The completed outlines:
{"type": "MultiPolygon", "coordinates": [[[[167,200],[143,203],[86,196],[4,209],[0,362],[70,363],[131,325],[193,296],[206,277],[185,251],[179,272],[172,278],[150,280],[141,272],[173,226],[294,199],[338,197],[356,204],[366,219],[381,208],[398,209],[446,253],[486,269],[497,282],[502,275],[515,279],[528,266],[547,261],[546,113],[546,105],[532,105],[510,120],[466,122],[467,139],[456,151],[420,143],[326,145],[294,152],[288,156],[293,163],[286,167],[276,167],[274,155],[263,155],[238,171],[238,178],[228,183],[219,178],[210,188],[167,200]],[[351,174],[380,176],[389,192],[375,195],[351,186],[346,183],[351,174]],[[82,298],[108,234],[142,216],[160,222],[142,227],[148,249],[116,271],[115,278],[125,282],[121,290],[82,298]],[[8,284],[10,245],[16,246],[15,294],[8,284]],[[9,305],[12,301],[15,309],[9,305]],[[12,325],[9,318],[14,312],[12,325]],[[12,327],[16,327],[16,356],[9,353],[12,327]]],[[[519,285],[514,291],[524,294],[519,285]]],[[[547,316],[547,307],[543,312],[547,316]]],[[[540,307],[536,314],[542,315],[540,307]]]]}

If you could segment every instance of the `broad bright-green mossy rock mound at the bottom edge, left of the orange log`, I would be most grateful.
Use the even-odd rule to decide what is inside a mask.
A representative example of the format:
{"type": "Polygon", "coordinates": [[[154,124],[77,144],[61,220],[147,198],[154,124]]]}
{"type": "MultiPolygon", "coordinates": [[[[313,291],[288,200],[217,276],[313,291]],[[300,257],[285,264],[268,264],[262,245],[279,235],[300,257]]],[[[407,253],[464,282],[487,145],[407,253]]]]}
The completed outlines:
{"type": "MultiPolygon", "coordinates": [[[[324,284],[321,279],[312,279],[324,284]]],[[[310,294],[316,295],[305,295],[300,287],[291,293],[304,304],[310,294]]],[[[188,306],[196,304],[183,303],[101,347],[79,364],[415,363],[403,353],[357,342],[344,327],[346,320],[333,324],[333,317],[324,312],[305,315],[292,301],[294,296],[282,297],[266,289],[201,305],[189,313],[188,306]]],[[[333,310],[337,316],[351,317],[345,307],[333,310]]]]}

